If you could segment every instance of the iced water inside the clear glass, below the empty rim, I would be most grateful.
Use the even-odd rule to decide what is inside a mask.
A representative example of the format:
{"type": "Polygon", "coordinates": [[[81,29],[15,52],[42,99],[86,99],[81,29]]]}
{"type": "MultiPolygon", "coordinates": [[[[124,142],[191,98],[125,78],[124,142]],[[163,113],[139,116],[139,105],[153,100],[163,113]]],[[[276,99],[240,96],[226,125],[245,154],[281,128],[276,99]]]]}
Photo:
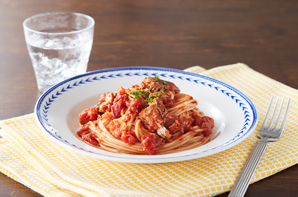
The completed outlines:
{"type": "MultiPolygon", "coordinates": [[[[30,39],[27,43],[38,88],[46,91],[52,85],[86,72],[92,47],[92,35],[83,32],[73,38],[30,39]]],[[[38,37],[34,33],[31,35],[38,37]]]]}

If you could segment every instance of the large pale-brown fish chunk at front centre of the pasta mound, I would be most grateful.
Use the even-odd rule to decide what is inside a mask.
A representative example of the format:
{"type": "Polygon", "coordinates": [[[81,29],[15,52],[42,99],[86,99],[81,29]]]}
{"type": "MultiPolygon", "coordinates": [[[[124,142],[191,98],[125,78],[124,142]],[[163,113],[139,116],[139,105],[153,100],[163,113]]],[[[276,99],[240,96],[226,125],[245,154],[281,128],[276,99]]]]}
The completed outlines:
{"type": "Polygon", "coordinates": [[[139,118],[142,120],[144,128],[151,133],[169,139],[171,134],[163,125],[166,114],[167,111],[162,101],[159,98],[154,98],[152,103],[139,114],[139,118]]]}

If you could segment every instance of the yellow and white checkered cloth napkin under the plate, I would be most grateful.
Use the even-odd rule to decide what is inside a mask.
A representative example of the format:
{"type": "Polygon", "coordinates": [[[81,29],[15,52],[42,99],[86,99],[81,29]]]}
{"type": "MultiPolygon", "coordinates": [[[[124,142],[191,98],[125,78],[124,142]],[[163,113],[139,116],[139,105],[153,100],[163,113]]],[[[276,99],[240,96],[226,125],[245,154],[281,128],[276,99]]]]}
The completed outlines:
{"type": "Polygon", "coordinates": [[[200,73],[225,82],[254,103],[259,122],[246,140],[218,154],[184,162],[127,164],[72,152],[49,140],[34,115],[0,121],[0,170],[44,196],[214,196],[231,189],[257,141],[271,95],[291,97],[281,140],[269,142],[252,182],[298,163],[298,91],[237,63],[200,73]]]}

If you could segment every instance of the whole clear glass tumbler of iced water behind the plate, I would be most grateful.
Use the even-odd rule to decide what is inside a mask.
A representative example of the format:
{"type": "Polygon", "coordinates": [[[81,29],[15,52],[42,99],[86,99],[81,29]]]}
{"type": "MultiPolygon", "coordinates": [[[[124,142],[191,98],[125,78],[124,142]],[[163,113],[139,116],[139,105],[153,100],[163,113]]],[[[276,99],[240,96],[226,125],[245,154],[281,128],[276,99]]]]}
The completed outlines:
{"type": "Polygon", "coordinates": [[[73,12],[48,12],[24,20],[26,44],[41,92],[86,73],[94,24],[90,16],[73,12]]]}

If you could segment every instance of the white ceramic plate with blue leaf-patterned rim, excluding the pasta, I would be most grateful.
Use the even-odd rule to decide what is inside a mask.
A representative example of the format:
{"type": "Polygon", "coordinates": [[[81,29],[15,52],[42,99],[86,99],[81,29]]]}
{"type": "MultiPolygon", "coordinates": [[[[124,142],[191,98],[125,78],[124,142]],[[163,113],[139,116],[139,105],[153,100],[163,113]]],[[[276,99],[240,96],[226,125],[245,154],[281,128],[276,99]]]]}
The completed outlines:
{"type": "Polygon", "coordinates": [[[176,162],[213,155],[246,139],[257,124],[253,103],[233,87],[193,73],[148,67],[105,69],[67,79],[41,95],[34,112],[45,135],[65,148],[94,158],[128,163],[176,162]],[[140,84],[144,77],[157,75],[174,82],[181,93],[193,96],[200,110],[214,119],[209,143],[174,154],[137,156],[101,150],[77,136],[79,114],[96,105],[102,93],[140,84]]]}

